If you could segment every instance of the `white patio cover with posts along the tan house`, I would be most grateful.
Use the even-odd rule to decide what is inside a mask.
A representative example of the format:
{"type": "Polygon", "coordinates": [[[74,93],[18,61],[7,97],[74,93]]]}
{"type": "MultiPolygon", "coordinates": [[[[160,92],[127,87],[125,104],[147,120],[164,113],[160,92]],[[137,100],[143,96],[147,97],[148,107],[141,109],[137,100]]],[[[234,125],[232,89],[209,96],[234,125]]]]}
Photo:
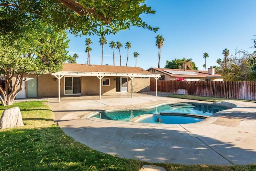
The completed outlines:
{"type": "Polygon", "coordinates": [[[52,73],[52,76],[55,76],[58,79],[58,97],[60,102],[60,79],[64,76],[90,76],[90,77],[97,77],[100,80],[99,86],[100,86],[100,99],[101,99],[101,79],[105,76],[110,77],[129,77],[132,81],[132,90],[131,90],[131,97],[132,97],[132,91],[133,91],[133,79],[135,77],[152,77],[156,79],[156,96],[157,96],[157,80],[160,78],[160,74],[135,74],[135,73],[111,73],[111,72],[56,72],[52,73]]]}

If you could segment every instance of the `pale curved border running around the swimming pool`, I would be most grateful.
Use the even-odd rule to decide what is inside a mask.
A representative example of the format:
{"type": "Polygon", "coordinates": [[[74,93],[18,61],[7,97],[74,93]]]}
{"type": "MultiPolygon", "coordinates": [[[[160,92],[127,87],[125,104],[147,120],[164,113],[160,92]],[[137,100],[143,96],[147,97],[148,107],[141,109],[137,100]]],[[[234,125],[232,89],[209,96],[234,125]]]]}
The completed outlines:
{"type": "Polygon", "coordinates": [[[80,119],[88,119],[91,121],[101,121],[101,122],[105,122],[105,123],[121,123],[121,124],[127,124],[127,125],[148,125],[148,126],[152,126],[152,127],[201,127],[204,125],[209,125],[211,123],[213,123],[214,121],[216,121],[223,113],[228,112],[228,110],[232,110],[235,109],[236,107],[245,107],[244,105],[240,105],[239,103],[234,103],[234,101],[230,102],[230,101],[217,101],[217,102],[208,102],[208,101],[196,101],[196,100],[186,100],[186,101],[182,101],[184,103],[186,102],[192,102],[192,103],[205,103],[205,104],[212,104],[212,105],[217,105],[217,106],[222,106],[222,107],[233,107],[231,109],[226,109],[223,111],[219,111],[217,113],[212,114],[210,117],[207,117],[206,119],[200,121],[200,122],[196,122],[196,123],[185,123],[185,124],[156,124],[156,123],[140,123],[140,122],[131,122],[131,121],[114,121],[114,120],[107,120],[107,119],[100,119],[100,118],[96,118],[96,117],[92,117],[94,115],[97,115],[98,113],[100,113],[101,111],[124,111],[124,110],[134,110],[134,109],[148,109],[148,108],[152,108],[152,107],[158,107],[160,105],[167,105],[167,104],[172,104],[172,103],[176,103],[174,101],[170,102],[160,102],[160,101],[154,101],[156,104],[152,105],[143,105],[142,107],[123,107],[120,108],[119,106],[112,106],[111,109],[102,109],[102,110],[96,110],[92,109],[91,112],[83,115],[80,117],[80,119]],[[117,108],[118,107],[118,108],[117,108]],[[94,119],[95,118],[95,119],[94,119]]]}

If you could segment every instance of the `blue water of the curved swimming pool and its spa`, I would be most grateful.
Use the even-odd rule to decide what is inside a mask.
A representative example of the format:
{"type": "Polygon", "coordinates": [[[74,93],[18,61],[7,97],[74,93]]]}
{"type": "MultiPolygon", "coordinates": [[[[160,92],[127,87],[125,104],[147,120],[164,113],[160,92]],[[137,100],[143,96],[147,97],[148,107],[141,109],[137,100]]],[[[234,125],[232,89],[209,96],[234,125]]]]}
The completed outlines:
{"type": "Polygon", "coordinates": [[[131,121],[134,118],[146,114],[150,117],[141,119],[139,122],[143,123],[166,123],[166,124],[183,124],[183,123],[195,123],[202,121],[205,117],[198,116],[210,116],[213,113],[222,111],[228,108],[215,106],[204,103],[187,103],[192,107],[173,106],[172,104],[161,105],[150,109],[136,109],[126,111],[102,111],[93,117],[101,119],[116,120],[116,121],[131,121]],[[169,115],[166,113],[170,113],[169,115]],[[179,113],[188,114],[187,116],[181,116],[179,113]],[[161,122],[160,122],[161,121],[161,122]]]}

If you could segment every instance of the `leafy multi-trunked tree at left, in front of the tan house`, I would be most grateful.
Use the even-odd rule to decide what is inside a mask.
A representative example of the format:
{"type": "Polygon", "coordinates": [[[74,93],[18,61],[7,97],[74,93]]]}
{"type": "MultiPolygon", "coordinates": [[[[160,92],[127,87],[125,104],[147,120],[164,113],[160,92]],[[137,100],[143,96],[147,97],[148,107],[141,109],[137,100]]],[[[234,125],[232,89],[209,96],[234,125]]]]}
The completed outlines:
{"type": "Polygon", "coordinates": [[[66,51],[68,42],[65,32],[41,24],[30,25],[15,38],[0,35],[0,74],[5,79],[5,86],[0,86],[2,105],[12,105],[29,74],[62,70],[63,63],[72,58],[66,51]]]}

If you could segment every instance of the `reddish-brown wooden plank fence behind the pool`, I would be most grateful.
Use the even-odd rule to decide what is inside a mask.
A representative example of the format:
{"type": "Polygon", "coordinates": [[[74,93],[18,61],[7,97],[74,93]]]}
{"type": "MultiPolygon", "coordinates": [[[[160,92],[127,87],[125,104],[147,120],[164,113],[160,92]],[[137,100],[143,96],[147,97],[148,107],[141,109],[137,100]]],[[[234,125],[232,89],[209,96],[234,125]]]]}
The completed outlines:
{"type": "MultiPolygon", "coordinates": [[[[150,81],[156,91],[156,81],[150,81]]],[[[256,101],[256,82],[158,81],[157,91],[256,101]]]]}

